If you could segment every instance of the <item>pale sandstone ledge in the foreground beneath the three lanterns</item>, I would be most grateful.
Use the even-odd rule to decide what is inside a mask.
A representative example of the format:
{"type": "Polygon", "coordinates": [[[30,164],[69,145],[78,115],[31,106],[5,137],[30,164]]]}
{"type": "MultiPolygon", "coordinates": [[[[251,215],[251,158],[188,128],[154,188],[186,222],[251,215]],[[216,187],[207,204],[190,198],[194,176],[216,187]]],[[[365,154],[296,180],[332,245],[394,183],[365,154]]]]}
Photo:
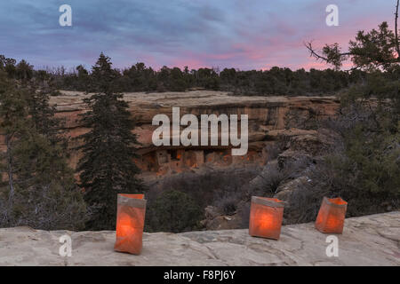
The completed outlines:
{"type": "Polygon", "coordinates": [[[0,265],[400,265],[400,211],[346,219],[339,256],[314,224],[284,225],[279,241],[247,230],[145,233],[140,256],[113,250],[115,232],[0,229],[0,265]],[[59,238],[72,237],[72,256],[59,238]]]}

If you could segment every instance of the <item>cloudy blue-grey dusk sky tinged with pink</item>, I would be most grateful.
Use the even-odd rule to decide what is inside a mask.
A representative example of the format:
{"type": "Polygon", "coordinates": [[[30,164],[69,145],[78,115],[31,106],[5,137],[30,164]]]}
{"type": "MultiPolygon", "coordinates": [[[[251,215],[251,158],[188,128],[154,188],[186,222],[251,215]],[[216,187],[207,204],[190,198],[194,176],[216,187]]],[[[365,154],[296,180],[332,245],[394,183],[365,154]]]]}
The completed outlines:
{"type": "MultiPolygon", "coordinates": [[[[240,70],[325,68],[303,43],[340,43],[388,21],[395,0],[13,0],[0,2],[0,54],[37,68],[92,67],[100,52],[114,67],[240,70]],[[59,7],[72,9],[61,27],[59,7]],[[328,4],[339,26],[328,27],[328,4]]],[[[349,67],[346,64],[344,68],[349,67]]]]}

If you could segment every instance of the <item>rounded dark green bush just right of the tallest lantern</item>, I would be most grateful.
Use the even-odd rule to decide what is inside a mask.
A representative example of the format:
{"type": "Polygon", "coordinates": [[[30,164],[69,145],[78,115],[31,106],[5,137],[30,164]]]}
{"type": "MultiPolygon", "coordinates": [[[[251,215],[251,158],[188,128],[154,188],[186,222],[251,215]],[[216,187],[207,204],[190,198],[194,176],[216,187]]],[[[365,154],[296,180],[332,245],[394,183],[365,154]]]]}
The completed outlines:
{"type": "Polygon", "coordinates": [[[202,210],[187,193],[165,191],[148,207],[149,231],[180,233],[195,230],[203,217],[202,210]]]}

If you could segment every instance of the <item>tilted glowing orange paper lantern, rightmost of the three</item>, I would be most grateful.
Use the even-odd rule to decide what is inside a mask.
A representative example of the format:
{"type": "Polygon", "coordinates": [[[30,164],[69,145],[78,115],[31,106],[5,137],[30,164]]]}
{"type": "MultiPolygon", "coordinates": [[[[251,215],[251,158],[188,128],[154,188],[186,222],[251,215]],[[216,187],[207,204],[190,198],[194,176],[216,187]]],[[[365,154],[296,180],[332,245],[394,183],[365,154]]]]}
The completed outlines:
{"type": "Polygon", "coordinates": [[[346,209],[348,209],[348,202],[340,197],[324,197],[316,217],[316,229],[322,233],[342,233],[346,209]]]}

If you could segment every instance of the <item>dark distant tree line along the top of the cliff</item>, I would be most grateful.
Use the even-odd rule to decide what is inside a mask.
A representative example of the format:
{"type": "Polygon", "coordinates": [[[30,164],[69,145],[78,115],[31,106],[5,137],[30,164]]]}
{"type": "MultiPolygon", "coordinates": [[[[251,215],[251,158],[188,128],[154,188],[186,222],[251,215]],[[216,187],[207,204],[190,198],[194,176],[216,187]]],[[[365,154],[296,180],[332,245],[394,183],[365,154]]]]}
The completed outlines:
{"type": "MultiPolygon", "coordinates": [[[[68,71],[65,67],[36,70],[27,61],[18,64],[15,59],[0,55],[0,65],[14,79],[36,79],[37,82],[52,85],[54,90],[94,92],[95,78],[92,71],[79,65],[68,71]]],[[[113,68],[113,86],[120,92],[163,92],[189,91],[206,89],[230,91],[245,95],[285,95],[316,96],[332,95],[348,90],[352,86],[363,84],[367,74],[361,70],[341,71],[335,69],[306,71],[301,68],[292,71],[290,68],[272,67],[269,70],[241,71],[235,68],[191,69],[184,67],[162,67],[155,70],[144,63],[132,67],[113,68]]],[[[380,70],[375,71],[382,73],[380,70]]],[[[383,73],[384,76],[385,73],[383,73]]]]}

